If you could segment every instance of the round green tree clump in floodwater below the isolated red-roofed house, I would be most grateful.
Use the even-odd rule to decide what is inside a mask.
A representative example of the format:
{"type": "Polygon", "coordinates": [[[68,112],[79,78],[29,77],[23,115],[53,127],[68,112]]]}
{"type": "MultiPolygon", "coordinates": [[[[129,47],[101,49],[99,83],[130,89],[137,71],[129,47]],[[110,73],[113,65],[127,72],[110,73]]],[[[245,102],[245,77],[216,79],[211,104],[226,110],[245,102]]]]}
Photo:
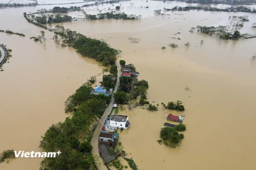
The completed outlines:
{"type": "Polygon", "coordinates": [[[180,145],[184,138],[184,135],[179,131],[186,131],[186,129],[185,124],[178,124],[174,128],[164,127],[161,129],[160,138],[163,140],[164,145],[175,148],[180,145]]]}

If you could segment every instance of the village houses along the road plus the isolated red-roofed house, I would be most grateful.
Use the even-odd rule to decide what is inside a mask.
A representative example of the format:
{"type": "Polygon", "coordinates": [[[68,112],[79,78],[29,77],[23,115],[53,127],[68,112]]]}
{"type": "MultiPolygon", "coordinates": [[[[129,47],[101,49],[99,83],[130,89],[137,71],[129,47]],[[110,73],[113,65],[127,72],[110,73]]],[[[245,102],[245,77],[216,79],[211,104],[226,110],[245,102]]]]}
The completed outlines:
{"type": "MultiPolygon", "coordinates": [[[[120,75],[120,78],[121,77],[131,77],[133,79],[138,78],[139,72],[135,71],[135,67],[132,64],[123,65],[121,70],[122,70],[122,73],[120,75]]],[[[108,75],[104,74],[102,76],[102,79],[105,79],[107,77],[111,81],[116,81],[116,78],[111,76],[110,74],[108,75]]],[[[129,91],[132,89],[132,86],[133,85],[131,83],[127,83],[127,84],[123,84],[123,86],[120,85],[118,89],[120,88],[124,91],[129,91]]],[[[91,94],[94,94],[94,95],[103,94],[111,98],[111,96],[113,95],[113,89],[110,88],[107,90],[103,86],[95,86],[91,94]]],[[[129,116],[118,114],[118,111],[120,110],[119,109],[120,106],[121,105],[118,105],[116,101],[114,101],[114,104],[112,106],[113,108],[111,109],[111,112],[107,116],[106,120],[103,121],[103,126],[101,128],[101,132],[99,133],[99,137],[98,137],[98,152],[108,169],[110,169],[108,166],[109,163],[117,159],[118,156],[121,156],[121,155],[117,155],[116,152],[114,151],[116,150],[116,147],[118,146],[118,143],[119,143],[119,138],[121,137],[119,133],[122,133],[123,131],[129,129],[131,125],[129,121],[129,116]]],[[[185,114],[183,114],[182,116],[175,116],[172,113],[170,113],[166,117],[167,122],[163,123],[163,125],[170,128],[174,128],[175,126],[177,126],[177,123],[178,124],[183,123],[184,117],[185,117],[185,114]],[[176,122],[176,124],[171,123],[171,121],[176,122]]],[[[125,157],[125,155],[122,155],[122,156],[125,157]]]]}

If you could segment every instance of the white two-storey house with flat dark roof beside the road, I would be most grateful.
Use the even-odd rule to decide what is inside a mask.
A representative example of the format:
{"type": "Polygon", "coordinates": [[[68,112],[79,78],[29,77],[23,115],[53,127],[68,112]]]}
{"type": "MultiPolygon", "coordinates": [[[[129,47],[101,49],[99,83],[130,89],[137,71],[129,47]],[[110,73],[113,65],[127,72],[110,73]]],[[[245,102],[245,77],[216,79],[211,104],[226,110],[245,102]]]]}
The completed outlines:
{"type": "Polygon", "coordinates": [[[110,118],[110,126],[114,128],[128,129],[130,122],[127,115],[113,115],[110,118]]]}

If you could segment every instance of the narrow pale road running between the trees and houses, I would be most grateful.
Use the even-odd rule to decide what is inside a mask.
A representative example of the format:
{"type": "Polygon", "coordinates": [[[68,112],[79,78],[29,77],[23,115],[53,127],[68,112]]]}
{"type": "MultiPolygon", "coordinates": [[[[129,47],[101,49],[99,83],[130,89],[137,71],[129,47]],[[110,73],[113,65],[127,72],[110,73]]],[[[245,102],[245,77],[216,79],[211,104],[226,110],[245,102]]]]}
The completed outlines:
{"type": "MultiPolygon", "coordinates": [[[[114,89],[114,92],[117,91],[117,88],[119,86],[119,77],[121,75],[121,66],[119,65],[118,62],[116,62],[116,65],[117,65],[117,81],[116,81],[116,87],[114,89]]],[[[97,128],[95,129],[94,133],[93,133],[93,138],[92,138],[92,146],[93,146],[93,154],[94,155],[98,155],[100,156],[99,152],[98,152],[98,139],[99,139],[99,135],[100,135],[100,132],[101,132],[101,129],[102,129],[102,126],[103,126],[103,123],[104,121],[106,120],[106,118],[108,117],[109,113],[111,112],[111,109],[113,107],[113,104],[114,104],[114,98],[111,97],[111,101],[110,101],[110,104],[109,106],[106,108],[105,112],[103,113],[103,115],[101,116],[101,119],[98,123],[98,126],[97,128]]],[[[107,169],[107,167],[105,165],[103,165],[103,159],[100,158],[100,163],[101,163],[101,170],[105,170],[107,169]]]]}

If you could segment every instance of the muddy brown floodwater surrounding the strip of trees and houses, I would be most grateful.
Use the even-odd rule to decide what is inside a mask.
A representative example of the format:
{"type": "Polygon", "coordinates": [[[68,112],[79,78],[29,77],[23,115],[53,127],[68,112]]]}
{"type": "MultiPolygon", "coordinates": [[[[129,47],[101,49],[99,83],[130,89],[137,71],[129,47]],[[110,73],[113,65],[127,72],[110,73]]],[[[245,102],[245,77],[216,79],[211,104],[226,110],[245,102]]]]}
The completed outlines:
{"type": "MultiPolygon", "coordinates": [[[[161,4],[168,8],[186,4],[149,3],[122,2],[123,11],[141,14],[141,20],[61,23],[65,28],[104,39],[110,46],[121,49],[120,59],[133,63],[140,72],[139,79],[148,81],[150,103],[183,101],[186,108],[183,123],[187,131],[185,139],[175,149],[159,145],[156,140],[167,114],[183,113],[162,111],[161,106],[157,112],[141,108],[119,112],[130,116],[130,128],[120,135],[128,157],[133,158],[139,169],[255,169],[256,61],[252,61],[251,56],[256,53],[256,39],[219,40],[188,31],[197,25],[229,25],[228,16],[248,15],[250,22],[244,23],[239,31],[255,34],[250,28],[256,22],[255,14],[181,11],[169,12],[170,15],[163,17],[153,12],[161,8],[161,4]],[[154,6],[140,8],[149,3],[154,6]],[[174,35],[177,32],[181,33],[174,35]],[[137,38],[139,43],[130,43],[129,38],[137,38]],[[203,45],[201,40],[204,40],[203,45]],[[185,47],[187,42],[190,47],[185,47]],[[170,48],[167,45],[170,43],[179,47],[170,48]],[[162,46],[166,49],[161,49],[162,46]],[[184,90],[185,87],[191,91],[184,90]]],[[[94,10],[86,12],[94,13],[97,8],[108,6],[95,6],[94,10]]],[[[3,129],[0,151],[11,148],[37,151],[40,136],[49,125],[65,119],[66,98],[91,75],[102,70],[96,62],[79,56],[74,49],[56,46],[50,40],[51,32],[46,32],[46,43],[29,39],[39,35],[41,29],[23,19],[22,13],[42,7],[46,8],[0,10],[1,29],[26,35],[0,33],[1,43],[13,50],[10,63],[6,63],[4,72],[0,73],[0,128],[3,129]]],[[[9,164],[0,164],[0,169],[37,169],[40,161],[18,158],[9,164]]]]}

